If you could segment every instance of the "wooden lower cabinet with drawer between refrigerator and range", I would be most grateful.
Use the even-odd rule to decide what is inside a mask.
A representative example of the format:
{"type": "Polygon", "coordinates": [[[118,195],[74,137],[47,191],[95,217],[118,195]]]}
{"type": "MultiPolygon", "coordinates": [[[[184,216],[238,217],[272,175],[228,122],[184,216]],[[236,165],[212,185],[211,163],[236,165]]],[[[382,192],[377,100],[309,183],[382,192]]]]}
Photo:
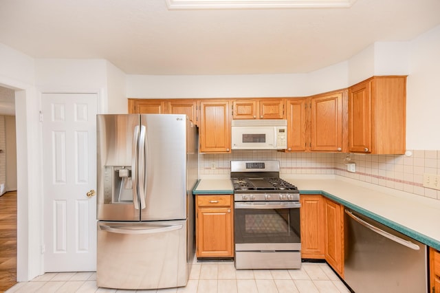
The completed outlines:
{"type": "Polygon", "coordinates": [[[196,256],[234,257],[232,195],[196,195],[196,256]]]}

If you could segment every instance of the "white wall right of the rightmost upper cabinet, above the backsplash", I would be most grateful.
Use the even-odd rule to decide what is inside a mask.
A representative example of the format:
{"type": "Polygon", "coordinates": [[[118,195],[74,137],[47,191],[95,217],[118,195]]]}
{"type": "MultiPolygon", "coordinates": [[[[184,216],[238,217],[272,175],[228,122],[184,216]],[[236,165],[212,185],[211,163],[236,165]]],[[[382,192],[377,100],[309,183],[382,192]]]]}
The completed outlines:
{"type": "Polygon", "coordinates": [[[440,25],[410,42],[408,149],[440,150],[440,25]]]}

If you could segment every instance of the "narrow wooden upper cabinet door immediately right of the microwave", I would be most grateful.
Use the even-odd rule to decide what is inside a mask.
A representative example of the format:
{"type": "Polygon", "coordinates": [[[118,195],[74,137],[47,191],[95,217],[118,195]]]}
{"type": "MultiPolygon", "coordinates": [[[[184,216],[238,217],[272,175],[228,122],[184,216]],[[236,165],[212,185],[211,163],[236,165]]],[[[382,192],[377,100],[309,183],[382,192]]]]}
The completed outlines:
{"type": "Polygon", "coordinates": [[[306,99],[287,100],[287,151],[305,151],[307,146],[306,99]]]}

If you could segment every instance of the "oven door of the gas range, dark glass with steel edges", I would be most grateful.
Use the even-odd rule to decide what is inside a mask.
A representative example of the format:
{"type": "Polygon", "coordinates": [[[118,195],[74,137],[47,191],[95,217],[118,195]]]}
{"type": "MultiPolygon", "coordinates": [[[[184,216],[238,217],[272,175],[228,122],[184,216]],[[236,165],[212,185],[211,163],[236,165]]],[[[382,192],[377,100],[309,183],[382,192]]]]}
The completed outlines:
{"type": "Polygon", "coordinates": [[[237,251],[301,249],[299,202],[236,202],[237,251]]]}

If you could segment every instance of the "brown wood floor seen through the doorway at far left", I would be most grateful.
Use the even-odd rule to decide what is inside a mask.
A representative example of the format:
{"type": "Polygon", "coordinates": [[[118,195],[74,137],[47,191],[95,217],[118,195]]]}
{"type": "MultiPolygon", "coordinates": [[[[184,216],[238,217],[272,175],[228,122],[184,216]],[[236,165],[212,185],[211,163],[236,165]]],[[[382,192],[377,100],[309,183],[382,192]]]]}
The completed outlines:
{"type": "Polygon", "coordinates": [[[17,282],[17,192],[0,197],[0,292],[17,282]]]}

